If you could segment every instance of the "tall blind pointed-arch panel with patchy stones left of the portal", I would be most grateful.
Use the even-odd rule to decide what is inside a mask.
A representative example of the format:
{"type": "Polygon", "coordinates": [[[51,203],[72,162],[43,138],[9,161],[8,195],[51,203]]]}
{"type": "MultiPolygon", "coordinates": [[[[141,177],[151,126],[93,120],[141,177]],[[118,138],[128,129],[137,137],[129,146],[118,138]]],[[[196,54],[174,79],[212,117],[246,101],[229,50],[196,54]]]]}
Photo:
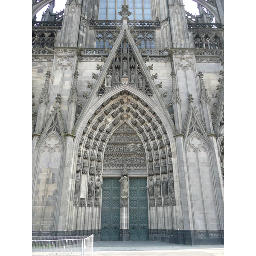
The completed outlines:
{"type": "Polygon", "coordinates": [[[52,233],[61,173],[62,139],[52,131],[40,145],[38,144],[38,149],[38,161],[33,177],[32,228],[35,231],[52,233]]]}

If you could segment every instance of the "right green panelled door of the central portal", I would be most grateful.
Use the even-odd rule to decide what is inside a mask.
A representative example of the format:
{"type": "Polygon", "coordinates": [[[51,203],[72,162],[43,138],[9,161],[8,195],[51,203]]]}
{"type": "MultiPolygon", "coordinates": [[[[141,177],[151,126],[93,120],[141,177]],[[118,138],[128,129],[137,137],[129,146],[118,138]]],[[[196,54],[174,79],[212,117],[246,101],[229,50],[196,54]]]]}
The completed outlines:
{"type": "Polygon", "coordinates": [[[130,240],[148,240],[147,178],[129,178],[130,240]]]}

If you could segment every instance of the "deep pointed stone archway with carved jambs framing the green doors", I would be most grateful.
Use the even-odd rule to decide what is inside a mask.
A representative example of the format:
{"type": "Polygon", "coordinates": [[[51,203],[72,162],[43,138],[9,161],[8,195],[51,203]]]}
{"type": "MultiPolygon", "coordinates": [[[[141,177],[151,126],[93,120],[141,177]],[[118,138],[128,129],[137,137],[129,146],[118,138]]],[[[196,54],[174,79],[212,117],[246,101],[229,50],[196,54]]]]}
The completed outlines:
{"type": "MultiPolygon", "coordinates": [[[[97,236],[95,230],[98,232],[100,230],[102,200],[101,197],[88,196],[89,183],[92,183],[91,180],[94,182],[98,177],[102,180],[103,174],[104,177],[120,177],[123,175],[124,161],[128,176],[140,177],[141,174],[143,177],[148,177],[147,182],[149,183],[150,180],[155,182],[160,190],[162,190],[160,183],[169,184],[166,186],[166,189],[170,188],[169,190],[157,189],[155,193],[148,195],[149,234],[151,234],[150,230],[159,229],[157,225],[161,221],[158,222],[155,218],[160,218],[161,214],[167,214],[166,218],[170,218],[171,207],[176,205],[170,144],[162,120],[139,96],[123,89],[103,101],[83,129],[76,163],[78,178],[73,195],[73,212],[75,214],[81,212],[80,207],[85,208],[81,219],[88,219],[90,224],[80,225],[81,230],[89,228],[86,235],[93,232],[97,236]],[[128,134],[133,135],[133,139],[128,134]],[[117,151],[122,152],[117,153],[117,151]],[[149,179],[150,177],[152,179],[149,179]],[[91,207],[94,209],[93,212],[89,210],[91,207]],[[168,213],[160,214],[162,207],[167,207],[168,213]],[[95,210],[96,208],[99,209],[95,210]],[[91,217],[86,216],[87,214],[91,217]]],[[[168,229],[171,230],[172,227],[168,229]]]]}

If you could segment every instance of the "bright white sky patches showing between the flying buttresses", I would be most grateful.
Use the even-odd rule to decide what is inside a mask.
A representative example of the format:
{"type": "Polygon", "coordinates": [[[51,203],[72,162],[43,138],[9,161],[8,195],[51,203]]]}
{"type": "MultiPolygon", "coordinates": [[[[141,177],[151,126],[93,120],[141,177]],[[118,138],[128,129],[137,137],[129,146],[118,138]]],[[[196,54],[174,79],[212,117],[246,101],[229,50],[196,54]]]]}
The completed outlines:
{"type": "MultiPolygon", "coordinates": [[[[65,8],[65,3],[67,2],[67,0],[55,0],[55,7],[53,9],[53,12],[61,12],[64,8],[65,8]]],[[[185,10],[187,12],[190,12],[191,14],[195,15],[195,14],[199,14],[198,9],[197,9],[197,3],[195,3],[192,0],[183,0],[183,3],[185,5],[185,10]]],[[[36,20],[37,21],[41,21],[42,18],[42,14],[46,11],[47,7],[49,6],[49,4],[47,4],[47,6],[44,6],[44,8],[42,8],[36,15],[36,20]]]]}

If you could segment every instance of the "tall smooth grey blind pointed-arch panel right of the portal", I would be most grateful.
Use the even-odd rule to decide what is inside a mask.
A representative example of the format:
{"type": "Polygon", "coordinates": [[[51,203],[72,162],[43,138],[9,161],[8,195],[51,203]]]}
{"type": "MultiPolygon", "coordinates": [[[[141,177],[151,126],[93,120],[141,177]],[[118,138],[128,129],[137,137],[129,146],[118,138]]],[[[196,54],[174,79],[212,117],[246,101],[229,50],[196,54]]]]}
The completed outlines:
{"type": "MultiPolygon", "coordinates": [[[[213,176],[212,148],[198,132],[193,132],[186,143],[189,195],[192,207],[192,223],[199,230],[222,230],[218,199],[213,176]]],[[[207,236],[203,234],[202,236],[207,236]]]]}

